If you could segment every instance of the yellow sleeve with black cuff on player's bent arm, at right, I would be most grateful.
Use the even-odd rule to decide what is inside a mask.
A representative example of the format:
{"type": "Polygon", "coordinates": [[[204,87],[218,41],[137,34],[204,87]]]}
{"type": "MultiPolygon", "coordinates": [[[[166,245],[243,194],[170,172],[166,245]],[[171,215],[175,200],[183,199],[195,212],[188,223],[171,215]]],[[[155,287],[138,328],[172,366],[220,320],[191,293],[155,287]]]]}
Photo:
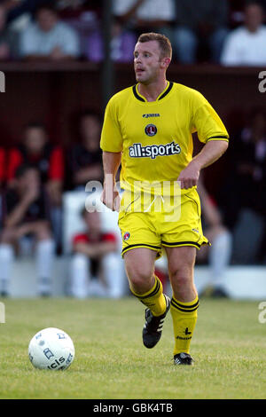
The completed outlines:
{"type": "Polygon", "coordinates": [[[225,126],[200,92],[195,91],[192,98],[192,133],[197,131],[200,142],[209,140],[225,140],[228,142],[229,134],[225,126]]]}

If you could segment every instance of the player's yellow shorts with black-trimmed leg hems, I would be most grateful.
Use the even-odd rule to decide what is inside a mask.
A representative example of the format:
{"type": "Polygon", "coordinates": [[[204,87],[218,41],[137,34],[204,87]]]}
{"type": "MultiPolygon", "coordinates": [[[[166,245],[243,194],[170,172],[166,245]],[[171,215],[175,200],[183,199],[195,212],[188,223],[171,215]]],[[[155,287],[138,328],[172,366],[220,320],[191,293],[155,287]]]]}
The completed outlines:
{"type": "Polygon", "coordinates": [[[209,244],[202,232],[200,197],[195,188],[182,193],[175,209],[169,204],[166,206],[160,195],[152,199],[149,210],[130,209],[132,204],[124,204],[121,199],[118,218],[121,256],[133,248],[149,248],[156,251],[159,258],[162,247],[200,249],[201,245],[209,244]]]}

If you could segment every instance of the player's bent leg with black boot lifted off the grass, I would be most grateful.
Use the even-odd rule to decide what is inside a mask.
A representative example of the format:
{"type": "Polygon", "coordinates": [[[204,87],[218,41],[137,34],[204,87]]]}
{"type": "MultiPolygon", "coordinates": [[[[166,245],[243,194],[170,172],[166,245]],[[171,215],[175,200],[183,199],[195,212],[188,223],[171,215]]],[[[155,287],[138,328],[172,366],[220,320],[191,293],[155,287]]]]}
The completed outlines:
{"type": "Polygon", "coordinates": [[[124,254],[130,290],[147,307],[143,329],[146,348],[153,348],[159,342],[169,310],[168,296],[163,294],[160,279],[154,275],[156,255],[156,251],[148,248],[135,248],[124,254]]]}

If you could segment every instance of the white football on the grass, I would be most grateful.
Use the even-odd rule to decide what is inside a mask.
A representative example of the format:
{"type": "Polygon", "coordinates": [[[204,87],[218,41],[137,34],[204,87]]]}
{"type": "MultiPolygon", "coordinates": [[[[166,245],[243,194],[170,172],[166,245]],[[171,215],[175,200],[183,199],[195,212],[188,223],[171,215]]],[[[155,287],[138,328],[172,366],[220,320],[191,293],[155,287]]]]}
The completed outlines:
{"type": "Polygon", "coordinates": [[[28,358],[38,369],[63,370],[74,360],[74,343],[63,330],[44,328],[29,342],[28,358]]]}

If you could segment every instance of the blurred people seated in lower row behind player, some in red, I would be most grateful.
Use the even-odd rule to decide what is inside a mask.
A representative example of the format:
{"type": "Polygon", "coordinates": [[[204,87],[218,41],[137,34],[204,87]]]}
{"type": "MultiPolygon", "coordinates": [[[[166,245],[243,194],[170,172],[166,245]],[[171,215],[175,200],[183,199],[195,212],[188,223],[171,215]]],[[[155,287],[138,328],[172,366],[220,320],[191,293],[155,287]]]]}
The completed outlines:
{"type": "MultiPolygon", "coordinates": [[[[207,192],[205,173],[201,174],[202,221],[212,246],[199,251],[197,263],[209,264],[217,296],[225,295],[223,277],[229,264],[266,264],[265,120],[264,109],[253,109],[241,129],[231,132],[233,146],[216,193],[207,192]]],[[[2,294],[7,291],[21,240],[32,237],[39,292],[49,294],[52,261],[62,254],[63,195],[66,191],[84,192],[88,181],[103,180],[101,126],[101,116],[88,110],[80,114],[79,139],[67,149],[53,144],[45,126],[36,122],[27,124],[18,145],[0,148],[2,294]]],[[[102,230],[97,212],[82,210],[81,216],[84,232],[72,237],[71,294],[88,295],[88,279],[102,276],[98,283],[91,280],[90,294],[121,296],[124,280],[118,237],[102,230]],[[106,260],[111,269],[105,266],[106,260]],[[116,280],[112,281],[108,271],[116,280]]],[[[162,268],[161,272],[163,279],[167,271],[162,268]]]]}

